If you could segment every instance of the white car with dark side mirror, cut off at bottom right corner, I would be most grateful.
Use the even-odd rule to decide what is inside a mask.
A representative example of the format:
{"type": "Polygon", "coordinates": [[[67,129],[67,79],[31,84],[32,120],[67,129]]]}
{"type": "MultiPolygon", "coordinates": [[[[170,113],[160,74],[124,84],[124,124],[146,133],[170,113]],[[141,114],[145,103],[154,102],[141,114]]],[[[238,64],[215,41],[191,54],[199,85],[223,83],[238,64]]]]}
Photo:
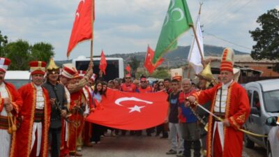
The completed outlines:
{"type": "Polygon", "coordinates": [[[272,126],[267,138],[267,156],[279,156],[279,126],[276,124],[278,117],[269,117],[266,119],[266,124],[272,126]]]}

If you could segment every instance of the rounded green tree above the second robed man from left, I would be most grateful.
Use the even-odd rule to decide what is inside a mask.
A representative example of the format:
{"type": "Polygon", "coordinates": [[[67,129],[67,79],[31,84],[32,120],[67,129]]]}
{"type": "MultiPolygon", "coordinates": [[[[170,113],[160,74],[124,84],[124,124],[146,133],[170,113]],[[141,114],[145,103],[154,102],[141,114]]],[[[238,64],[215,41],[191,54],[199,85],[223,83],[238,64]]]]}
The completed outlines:
{"type": "Polygon", "coordinates": [[[54,56],[54,47],[49,43],[36,43],[31,47],[31,60],[33,61],[50,61],[54,56]]]}

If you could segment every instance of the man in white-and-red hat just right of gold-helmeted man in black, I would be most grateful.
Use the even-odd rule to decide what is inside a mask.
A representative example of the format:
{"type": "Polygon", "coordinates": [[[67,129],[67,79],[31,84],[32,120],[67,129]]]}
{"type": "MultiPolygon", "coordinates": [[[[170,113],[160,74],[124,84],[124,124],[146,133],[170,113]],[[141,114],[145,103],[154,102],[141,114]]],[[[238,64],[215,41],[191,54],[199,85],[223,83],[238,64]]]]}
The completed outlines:
{"type": "MultiPolygon", "coordinates": [[[[67,109],[70,109],[70,92],[67,89],[67,85],[71,79],[73,79],[77,70],[74,68],[73,64],[65,63],[63,64],[63,70],[61,75],[59,76],[59,81],[63,84],[67,99],[67,109]]],[[[61,147],[60,147],[60,156],[70,156],[68,149],[68,140],[69,140],[69,124],[65,119],[62,120],[62,128],[61,128],[61,147]]]]}

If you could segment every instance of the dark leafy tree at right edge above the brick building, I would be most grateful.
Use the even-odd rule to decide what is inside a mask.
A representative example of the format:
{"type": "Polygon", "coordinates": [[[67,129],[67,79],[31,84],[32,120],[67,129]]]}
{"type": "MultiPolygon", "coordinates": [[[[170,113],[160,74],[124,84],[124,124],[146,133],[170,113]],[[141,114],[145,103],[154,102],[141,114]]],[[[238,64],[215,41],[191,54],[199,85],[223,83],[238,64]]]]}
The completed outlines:
{"type": "Polygon", "coordinates": [[[252,59],[279,59],[279,10],[268,10],[257,18],[257,23],[262,28],[249,31],[257,42],[252,46],[252,59]]]}

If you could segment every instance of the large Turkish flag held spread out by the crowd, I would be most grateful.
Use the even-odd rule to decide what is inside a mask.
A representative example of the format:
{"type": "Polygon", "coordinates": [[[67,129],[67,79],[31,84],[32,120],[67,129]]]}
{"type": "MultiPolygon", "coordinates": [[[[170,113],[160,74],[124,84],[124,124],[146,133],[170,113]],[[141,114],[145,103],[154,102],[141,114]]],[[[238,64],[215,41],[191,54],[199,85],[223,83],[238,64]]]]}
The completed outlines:
{"type": "Polygon", "coordinates": [[[107,89],[100,105],[103,107],[91,112],[86,121],[123,130],[142,130],[163,124],[167,118],[167,94],[163,91],[139,94],[107,89]]]}

